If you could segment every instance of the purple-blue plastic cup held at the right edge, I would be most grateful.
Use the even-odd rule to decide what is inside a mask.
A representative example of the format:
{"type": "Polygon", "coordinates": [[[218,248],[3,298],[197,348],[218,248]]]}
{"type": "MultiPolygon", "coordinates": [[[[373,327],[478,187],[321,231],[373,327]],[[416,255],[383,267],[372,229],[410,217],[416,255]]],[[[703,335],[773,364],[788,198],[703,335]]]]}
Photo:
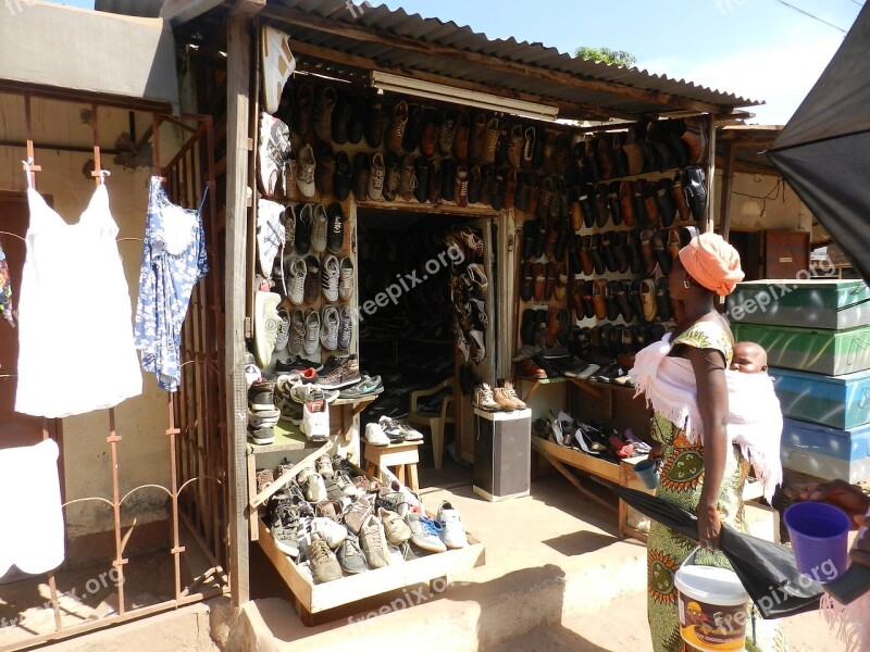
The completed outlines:
{"type": "Polygon", "coordinates": [[[845,512],[821,502],[791,505],[783,521],[792,538],[797,569],[821,582],[846,569],[852,521],[845,512]]]}

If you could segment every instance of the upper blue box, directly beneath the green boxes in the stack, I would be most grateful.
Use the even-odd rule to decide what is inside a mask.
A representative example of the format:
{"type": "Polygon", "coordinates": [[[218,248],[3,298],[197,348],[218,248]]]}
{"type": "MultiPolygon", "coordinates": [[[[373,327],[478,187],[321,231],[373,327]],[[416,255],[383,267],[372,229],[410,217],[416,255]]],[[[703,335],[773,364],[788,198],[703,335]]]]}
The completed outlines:
{"type": "Polygon", "coordinates": [[[870,371],[823,376],[769,368],[782,415],[847,430],[870,423],[870,371]]]}

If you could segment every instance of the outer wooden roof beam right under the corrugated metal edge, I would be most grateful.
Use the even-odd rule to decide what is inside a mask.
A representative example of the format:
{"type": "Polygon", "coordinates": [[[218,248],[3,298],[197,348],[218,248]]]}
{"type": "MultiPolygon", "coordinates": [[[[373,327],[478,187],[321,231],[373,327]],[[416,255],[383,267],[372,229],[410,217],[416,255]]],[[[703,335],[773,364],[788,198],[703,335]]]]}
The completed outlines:
{"type": "Polygon", "coordinates": [[[489,54],[482,54],[480,52],[471,52],[468,50],[458,50],[449,46],[442,46],[439,43],[418,40],[407,36],[365,27],[363,25],[355,25],[343,21],[324,18],[298,9],[270,5],[263,10],[261,15],[263,17],[273,18],[276,21],[286,21],[298,27],[304,27],[308,29],[314,29],[315,32],[340,36],[341,38],[384,46],[394,50],[405,50],[409,52],[417,52],[419,54],[440,57],[451,61],[459,61],[463,64],[482,65],[494,71],[500,71],[508,75],[521,75],[523,77],[544,79],[547,82],[561,84],[570,88],[605,92],[622,98],[649,102],[661,106],[686,109],[699,113],[728,113],[731,111],[730,105],[699,102],[697,100],[689,100],[667,92],[626,86],[617,82],[589,79],[571,73],[563,73],[561,71],[554,71],[550,68],[543,68],[525,63],[509,61],[507,59],[499,59],[489,54]]]}

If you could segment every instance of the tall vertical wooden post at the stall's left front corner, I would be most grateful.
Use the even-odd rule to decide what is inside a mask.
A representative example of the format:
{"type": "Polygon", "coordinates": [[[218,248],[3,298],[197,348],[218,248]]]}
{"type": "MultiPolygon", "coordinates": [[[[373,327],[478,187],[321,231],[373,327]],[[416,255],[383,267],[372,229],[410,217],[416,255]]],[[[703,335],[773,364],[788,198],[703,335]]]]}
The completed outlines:
{"type": "Polygon", "coordinates": [[[248,208],[248,124],[251,92],[251,36],[247,17],[228,22],[226,85],[226,423],[229,480],[229,578],[233,604],[250,599],[248,568],[248,468],[246,464],[246,396],[243,361],[245,359],[245,252],[248,208]]]}

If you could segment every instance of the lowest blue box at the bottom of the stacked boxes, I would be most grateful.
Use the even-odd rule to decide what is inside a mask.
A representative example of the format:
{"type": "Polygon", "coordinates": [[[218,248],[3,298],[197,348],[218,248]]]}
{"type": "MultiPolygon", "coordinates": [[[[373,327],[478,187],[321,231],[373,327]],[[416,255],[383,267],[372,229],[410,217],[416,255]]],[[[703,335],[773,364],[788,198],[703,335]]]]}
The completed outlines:
{"type": "Polygon", "coordinates": [[[783,419],[782,465],[832,480],[857,482],[870,477],[870,425],[852,430],[783,419]]]}

